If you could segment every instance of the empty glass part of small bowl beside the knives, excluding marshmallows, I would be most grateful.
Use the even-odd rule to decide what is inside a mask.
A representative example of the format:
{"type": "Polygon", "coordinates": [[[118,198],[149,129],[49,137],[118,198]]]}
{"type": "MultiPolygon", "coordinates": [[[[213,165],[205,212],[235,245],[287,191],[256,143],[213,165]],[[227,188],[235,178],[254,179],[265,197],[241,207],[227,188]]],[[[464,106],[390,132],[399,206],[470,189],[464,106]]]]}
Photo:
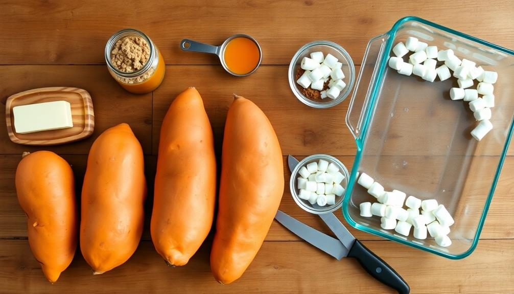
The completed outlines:
{"type": "Polygon", "coordinates": [[[303,210],[308,211],[310,213],[315,214],[323,214],[328,212],[333,212],[341,207],[343,204],[344,194],[341,196],[336,196],[336,203],[333,205],[325,205],[319,206],[317,204],[310,204],[309,201],[300,199],[298,194],[300,193],[300,189],[298,189],[297,179],[300,176],[299,171],[302,167],[306,166],[310,162],[317,162],[320,159],[324,159],[328,161],[328,163],[334,163],[339,168],[339,172],[344,175],[344,179],[341,182],[341,186],[344,188],[344,192],[346,193],[346,187],[348,185],[348,170],[344,166],[344,164],[339,161],[337,158],[325,155],[325,154],[314,154],[308,157],[305,157],[302,161],[300,161],[294,170],[291,172],[291,178],[289,180],[289,189],[291,190],[292,198],[295,199],[296,204],[301,207],[303,210]]]}

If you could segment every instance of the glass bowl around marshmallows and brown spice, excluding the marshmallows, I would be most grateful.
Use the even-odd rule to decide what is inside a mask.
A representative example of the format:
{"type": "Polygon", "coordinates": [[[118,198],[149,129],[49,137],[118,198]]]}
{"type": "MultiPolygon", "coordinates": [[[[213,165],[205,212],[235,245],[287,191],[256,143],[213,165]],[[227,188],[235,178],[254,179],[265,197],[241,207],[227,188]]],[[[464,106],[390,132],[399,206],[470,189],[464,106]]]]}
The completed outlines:
{"type": "Polygon", "coordinates": [[[295,94],[298,100],[310,107],[329,108],[341,103],[344,99],[346,99],[346,97],[348,97],[348,95],[350,95],[350,91],[352,90],[354,83],[355,67],[352,58],[350,57],[350,54],[348,54],[348,52],[343,49],[343,47],[337,45],[334,42],[314,41],[305,44],[295,53],[295,56],[292,57],[291,63],[289,64],[289,86],[291,87],[292,93],[295,94]],[[310,58],[310,53],[317,51],[323,52],[323,56],[326,56],[327,53],[331,53],[339,60],[340,63],[343,64],[341,69],[344,73],[343,82],[346,83],[346,87],[341,91],[336,99],[325,98],[319,101],[311,100],[302,94],[300,91],[302,86],[296,82],[296,70],[300,67],[302,59],[304,57],[310,58]]]}

